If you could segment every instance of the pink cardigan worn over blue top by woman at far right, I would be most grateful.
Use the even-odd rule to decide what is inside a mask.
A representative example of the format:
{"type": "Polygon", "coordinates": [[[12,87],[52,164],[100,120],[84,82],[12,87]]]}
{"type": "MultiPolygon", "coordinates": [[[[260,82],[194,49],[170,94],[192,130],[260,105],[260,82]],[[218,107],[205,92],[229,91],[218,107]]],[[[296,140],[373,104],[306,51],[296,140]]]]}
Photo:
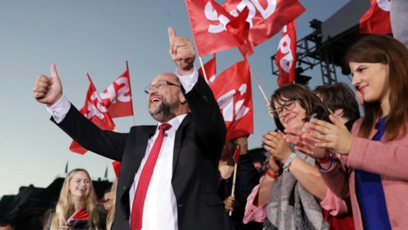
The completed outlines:
{"type": "Polygon", "coordinates": [[[393,229],[408,226],[408,135],[397,140],[373,141],[374,130],[368,139],[355,137],[362,119],[357,120],[351,134],[353,139],[348,156],[336,159],[327,170],[320,170],[327,186],[340,198],[350,196],[355,229],[363,229],[360,208],[355,194],[354,168],[381,176],[388,216],[393,229]]]}

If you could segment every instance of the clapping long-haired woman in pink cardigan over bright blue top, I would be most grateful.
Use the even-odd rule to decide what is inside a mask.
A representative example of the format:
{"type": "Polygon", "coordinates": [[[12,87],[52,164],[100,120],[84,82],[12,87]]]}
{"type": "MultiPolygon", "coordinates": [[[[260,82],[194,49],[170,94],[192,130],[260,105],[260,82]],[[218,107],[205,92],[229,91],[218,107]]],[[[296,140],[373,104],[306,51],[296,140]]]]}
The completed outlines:
{"type": "Polygon", "coordinates": [[[320,164],[320,174],[337,196],[350,196],[356,229],[406,229],[408,50],[392,37],[367,36],[345,61],[365,111],[351,134],[334,117],[333,124],[312,119],[307,133],[286,131],[301,137],[297,149],[329,159],[320,164]],[[329,151],[312,153],[307,147],[329,151]]]}

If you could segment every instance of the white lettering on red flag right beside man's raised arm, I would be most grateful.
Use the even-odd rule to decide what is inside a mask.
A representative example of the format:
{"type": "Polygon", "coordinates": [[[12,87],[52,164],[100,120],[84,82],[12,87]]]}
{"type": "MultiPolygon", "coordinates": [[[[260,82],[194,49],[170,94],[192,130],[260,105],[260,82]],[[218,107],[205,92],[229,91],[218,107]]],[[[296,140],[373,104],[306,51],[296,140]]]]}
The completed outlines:
{"type": "MultiPolygon", "coordinates": [[[[246,88],[246,84],[242,84],[240,86],[239,93],[241,96],[246,93],[246,88]]],[[[235,121],[241,119],[249,112],[249,108],[243,106],[244,99],[239,100],[237,103],[235,103],[234,106],[234,95],[236,93],[236,90],[229,91],[226,94],[220,96],[217,100],[218,106],[220,107],[220,109],[222,109],[222,117],[226,122],[232,122],[234,120],[234,110],[236,114],[235,121]]]]}

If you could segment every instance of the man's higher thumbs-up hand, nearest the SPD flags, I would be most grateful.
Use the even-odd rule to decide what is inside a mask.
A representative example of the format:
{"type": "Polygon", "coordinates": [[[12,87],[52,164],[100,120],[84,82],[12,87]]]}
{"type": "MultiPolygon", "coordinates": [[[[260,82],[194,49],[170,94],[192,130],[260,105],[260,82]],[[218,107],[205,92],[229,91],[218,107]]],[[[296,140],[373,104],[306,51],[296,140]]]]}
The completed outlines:
{"type": "Polygon", "coordinates": [[[187,38],[176,36],[172,27],[167,30],[170,41],[170,56],[182,75],[193,73],[195,51],[193,43],[187,38]]]}

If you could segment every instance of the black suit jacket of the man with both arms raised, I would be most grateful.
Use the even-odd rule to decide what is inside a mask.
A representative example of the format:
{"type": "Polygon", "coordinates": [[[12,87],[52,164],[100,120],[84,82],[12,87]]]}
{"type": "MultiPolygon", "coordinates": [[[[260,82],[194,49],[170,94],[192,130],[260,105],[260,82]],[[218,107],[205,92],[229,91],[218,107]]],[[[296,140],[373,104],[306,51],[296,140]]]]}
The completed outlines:
{"type": "MultiPolygon", "coordinates": [[[[217,165],[226,133],[222,114],[200,76],[185,97],[191,112],[175,134],[171,179],[179,229],[232,229],[217,194],[217,165]]],[[[113,229],[129,229],[129,190],[156,126],[134,126],[129,133],[103,131],[72,105],[58,126],[82,147],[122,162],[113,229]]]]}

